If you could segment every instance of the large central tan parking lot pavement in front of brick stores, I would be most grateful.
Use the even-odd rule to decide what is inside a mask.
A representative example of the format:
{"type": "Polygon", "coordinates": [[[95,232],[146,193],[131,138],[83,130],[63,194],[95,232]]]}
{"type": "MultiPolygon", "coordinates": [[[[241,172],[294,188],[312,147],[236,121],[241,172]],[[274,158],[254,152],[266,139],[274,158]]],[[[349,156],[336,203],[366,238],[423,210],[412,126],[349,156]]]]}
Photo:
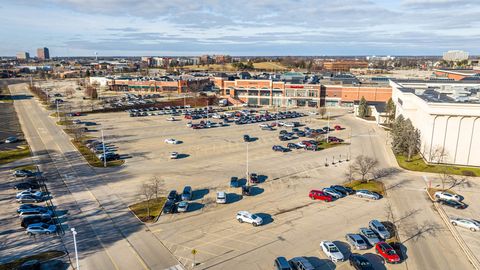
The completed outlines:
{"type": "MultiPolygon", "coordinates": [[[[342,118],[350,117],[337,117],[330,125],[343,125],[342,118]]],[[[166,118],[129,117],[125,112],[80,117],[83,121],[97,122],[106,142],[115,143],[119,151],[128,155],[120,172],[128,177],[109,183],[125,201],[138,201],[140,183],[153,176],[165,180],[167,191],[181,192],[183,186],[192,186],[194,198],[188,212],[163,215],[158,223],[150,226],[185,266],[191,266],[191,252],[196,249],[199,269],[265,269],[271,267],[277,256],[307,256],[320,269],[346,269],[348,262],[335,266],[327,260],[320,252],[320,241],[336,241],[340,249],[348,253],[345,234],[358,232],[360,227],[368,226],[371,219],[385,218],[383,199],[370,201],[348,196],[325,203],[308,198],[311,189],[344,182],[348,144],[317,152],[303,149],[274,152],[275,144],[286,146],[288,142],[302,139],[282,142],[279,131],[286,128],[261,130],[258,123],[231,123],[226,127],[194,130],[186,127],[191,120],[167,121],[166,118]],[[244,142],[245,134],[253,140],[244,142]],[[181,143],[166,144],[164,140],[168,138],[181,143]],[[247,144],[248,171],[257,173],[262,180],[254,196],[242,197],[240,189],[229,187],[229,181],[232,176],[246,176],[247,144]],[[170,159],[172,151],[182,156],[170,159]],[[215,204],[217,191],[226,191],[230,202],[215,204]],[[265,224],[252,227],[238,223],[235,215],[240,210],[258,214],[265,224]],[[243,256],[249,259],[243,260],[243,256]]],[[[295,121],[310,128],[327,124],[317,116],[295,121]]],[[[331,135],[348,143],[350,133],[345,126],[343,130],[332,131],[331,135]]],[[[373,248],[365,252],[377,265],[376,269],[385,267],[373,248]]]]}

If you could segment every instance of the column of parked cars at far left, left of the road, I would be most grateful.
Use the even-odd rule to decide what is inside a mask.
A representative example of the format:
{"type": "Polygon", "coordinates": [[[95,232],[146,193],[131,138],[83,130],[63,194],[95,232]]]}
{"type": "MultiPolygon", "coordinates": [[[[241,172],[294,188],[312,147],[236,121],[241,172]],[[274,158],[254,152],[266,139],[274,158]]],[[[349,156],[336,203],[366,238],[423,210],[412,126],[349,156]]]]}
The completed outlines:
{"type": "Polygon", "coordinates": [[[50,195],[40,190],[43,184],[37,181],[36,173],[23,169],[14,171],[13,176],[22,178],[22,181],[13,186],[18,191],[15,199],[20,203],[17,209],[20,226],[25,228],[29,235],[55,233],[57,226],[53,220],[53,211],[47,206],[37,204],[45,202],[50,195]]]}

